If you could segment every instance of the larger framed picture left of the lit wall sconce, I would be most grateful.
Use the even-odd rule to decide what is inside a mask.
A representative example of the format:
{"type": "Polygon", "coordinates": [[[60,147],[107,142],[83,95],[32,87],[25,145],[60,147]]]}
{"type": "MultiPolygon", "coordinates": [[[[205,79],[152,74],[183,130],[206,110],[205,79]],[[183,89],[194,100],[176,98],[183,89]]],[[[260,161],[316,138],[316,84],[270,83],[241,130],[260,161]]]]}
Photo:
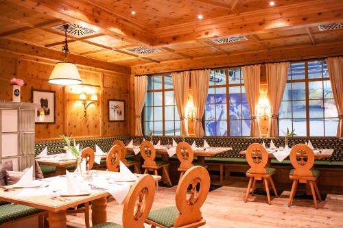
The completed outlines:
{"type": "Polygon", "coordinates": [[[55,91],[32,90],[32,103],[40,104],[34,114],[36,123],[55,123],[55,91]]]}

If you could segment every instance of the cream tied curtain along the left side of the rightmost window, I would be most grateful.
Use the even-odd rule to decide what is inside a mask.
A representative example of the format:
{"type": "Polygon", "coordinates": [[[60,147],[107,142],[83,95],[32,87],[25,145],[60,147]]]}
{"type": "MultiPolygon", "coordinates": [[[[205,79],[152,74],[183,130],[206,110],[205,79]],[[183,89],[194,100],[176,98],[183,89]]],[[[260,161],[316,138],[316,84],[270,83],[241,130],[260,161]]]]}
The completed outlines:
{"type": "Polygon", "coordinates": [[[267,73],[268,101],[270,103],[270,118],[268,137],[279,136],[279,108],[287,83],[289,62],[265,64],[267,73]]]}

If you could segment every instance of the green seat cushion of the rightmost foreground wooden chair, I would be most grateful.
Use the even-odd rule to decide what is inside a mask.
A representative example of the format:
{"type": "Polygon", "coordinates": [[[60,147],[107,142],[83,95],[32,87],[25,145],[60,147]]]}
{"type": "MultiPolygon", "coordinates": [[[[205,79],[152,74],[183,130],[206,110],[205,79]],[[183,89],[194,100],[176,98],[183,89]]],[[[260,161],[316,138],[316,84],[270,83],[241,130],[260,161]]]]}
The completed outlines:
{"type": "Polygon", "coordinates": [[[147,219],[164,227],[173,227],[178,214],[178,209],[175,206],[165,207],[150,212],[147,219]]]}

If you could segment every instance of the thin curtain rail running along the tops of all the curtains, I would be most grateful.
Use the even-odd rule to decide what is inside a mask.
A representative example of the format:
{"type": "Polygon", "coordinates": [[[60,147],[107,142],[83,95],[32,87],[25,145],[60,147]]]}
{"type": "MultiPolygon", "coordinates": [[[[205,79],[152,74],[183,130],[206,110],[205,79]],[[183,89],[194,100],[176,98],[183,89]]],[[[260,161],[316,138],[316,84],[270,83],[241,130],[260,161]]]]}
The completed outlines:
{"type": "Polygon", "coordinates": [[[251,66],[251,65],[256,65],[256,64],[270,64],[270,63],[278,63],[278,62],[298,62],[300,60],[302,61],[308,61],[308,60],[323,60],[325,58],[335,58],[335,57],[343,57],[343,55],[333,55],[333,56],[325,56],[325,57],[316,57],[316,58],[307,58],[307,59],[297,59],[297,60],[284,60],[284,61],[270,61],[270,62],[252,62],[250,64],[241,64],[241,65],[233,65],[233,66],[220,66],[220,67],[210,67],[210,68],[189,68],[186,70],[177,70],[177,71],[163,71],[161,73],[150,73],[150,74],[139,74],[139,75],[134,75],[134,76],[152,76],[152,75],[160,75],[160,74],[167,74],[167,73],[173,73],[173,72],[182,72],[182,71],[196,71],[196,70],[216,70],[216,69],[221,69],[221,68],[237,68],[241,66],[251,66]]]}

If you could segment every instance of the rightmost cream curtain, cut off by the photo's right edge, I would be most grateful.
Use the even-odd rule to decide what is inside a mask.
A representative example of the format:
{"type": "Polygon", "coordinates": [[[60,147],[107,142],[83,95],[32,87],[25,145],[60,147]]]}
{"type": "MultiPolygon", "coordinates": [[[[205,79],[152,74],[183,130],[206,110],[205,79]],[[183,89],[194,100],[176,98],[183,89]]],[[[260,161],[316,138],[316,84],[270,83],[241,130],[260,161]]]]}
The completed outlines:
{"type": "Polygon", "coordinates": [[[343,58],[327,58],[333,98],[338,111],[337,137],[343,137],[343,58]]]}

